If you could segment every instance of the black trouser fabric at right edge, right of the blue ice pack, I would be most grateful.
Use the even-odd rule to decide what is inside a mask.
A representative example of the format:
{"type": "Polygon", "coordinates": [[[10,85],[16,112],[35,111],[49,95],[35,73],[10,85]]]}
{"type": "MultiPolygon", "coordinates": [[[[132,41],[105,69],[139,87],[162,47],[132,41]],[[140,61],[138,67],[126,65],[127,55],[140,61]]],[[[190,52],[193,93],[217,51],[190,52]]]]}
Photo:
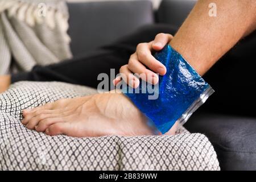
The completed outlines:
{"type": "Polygon", "coordinates": [[[241,40],[204,75],[216,92],[201,109],[256,117],[255,47],[256,31],[241,40]]]}

